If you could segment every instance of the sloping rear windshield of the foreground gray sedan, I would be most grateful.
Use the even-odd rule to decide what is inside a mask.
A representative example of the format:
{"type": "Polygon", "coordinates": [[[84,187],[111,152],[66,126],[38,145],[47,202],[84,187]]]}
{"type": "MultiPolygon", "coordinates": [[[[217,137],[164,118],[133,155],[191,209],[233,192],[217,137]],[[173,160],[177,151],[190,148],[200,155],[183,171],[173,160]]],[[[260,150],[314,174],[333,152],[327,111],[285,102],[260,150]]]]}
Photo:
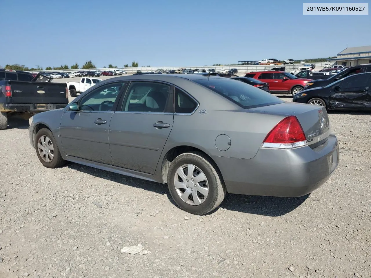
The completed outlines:
{"type": "Polygon", "coordinates": [[[194,82],[213,90],[245,109],[284,102],[262,89],[232,79],[201,79],[194,80],[194,82]]]}

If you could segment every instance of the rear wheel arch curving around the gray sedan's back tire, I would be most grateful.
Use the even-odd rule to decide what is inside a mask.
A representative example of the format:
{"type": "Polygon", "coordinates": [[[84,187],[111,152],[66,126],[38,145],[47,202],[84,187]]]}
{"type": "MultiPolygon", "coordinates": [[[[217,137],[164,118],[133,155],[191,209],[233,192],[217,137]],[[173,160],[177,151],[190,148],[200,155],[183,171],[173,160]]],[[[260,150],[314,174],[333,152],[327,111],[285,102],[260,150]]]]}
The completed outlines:
{"type": "Polygon", "coordinates": [[[178,156],[181,155],[182,153],[187,153],[187,152],[200,152],[203,153],[208,159],[209,162],[213,165],[217,173],[219,174],[221,182],[224,183],[223,176],[221,175],[220,169],[216,162],[211,158],[210,155],[208,155],[205,151],[195,147],[195,146],[189,146],[189,145],[179,145],[179,146],[174,146],[170,150],[167,151],[167,153],[164,155],[164,158],[162,159],[161,162],[161,174],[162,174],[162,181],[163,183],[167,183],[167,175],[169,171],[169,167],[171,162],[178,156]]]}

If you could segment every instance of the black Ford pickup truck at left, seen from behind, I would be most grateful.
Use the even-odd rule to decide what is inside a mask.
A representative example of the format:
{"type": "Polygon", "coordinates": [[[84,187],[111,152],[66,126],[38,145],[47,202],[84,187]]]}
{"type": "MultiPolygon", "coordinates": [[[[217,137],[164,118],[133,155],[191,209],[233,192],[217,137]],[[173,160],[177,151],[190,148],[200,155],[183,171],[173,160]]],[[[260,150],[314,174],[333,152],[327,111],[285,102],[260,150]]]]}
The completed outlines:
{"type": "Polygon", "coordinates": [[[13,114],[35,114],[63,108],[68,104],[66,83],[50,83],[40,73],[0,69],[0,130],[6,129],[13,114]]]}

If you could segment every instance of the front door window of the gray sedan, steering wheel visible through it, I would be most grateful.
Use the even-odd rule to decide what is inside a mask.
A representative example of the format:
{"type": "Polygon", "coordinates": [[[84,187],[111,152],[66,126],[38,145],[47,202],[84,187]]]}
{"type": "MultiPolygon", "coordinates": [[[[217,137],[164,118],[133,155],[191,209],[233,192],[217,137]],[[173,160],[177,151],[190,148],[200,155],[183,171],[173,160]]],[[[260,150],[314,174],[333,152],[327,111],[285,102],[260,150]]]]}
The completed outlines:
{"type": "Polygon", "coordinates": [[[114,103],[125,82],[111,83],[96,88],[79,103],[83,111],[112,111],[114,103]]]}

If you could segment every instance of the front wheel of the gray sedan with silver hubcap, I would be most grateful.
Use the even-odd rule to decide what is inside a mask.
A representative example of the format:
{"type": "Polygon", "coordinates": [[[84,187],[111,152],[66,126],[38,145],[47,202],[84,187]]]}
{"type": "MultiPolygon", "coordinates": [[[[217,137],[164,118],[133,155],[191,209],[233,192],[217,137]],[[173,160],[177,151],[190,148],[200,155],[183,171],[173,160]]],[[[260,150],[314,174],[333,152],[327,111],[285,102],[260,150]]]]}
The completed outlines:
{"type": "Polygon", "coordinates": [[[47,128],[37,132],[35,149],[37,157],[46,168],[58,168],[66,163],[60,155],[53,133],[47,128]]]}

